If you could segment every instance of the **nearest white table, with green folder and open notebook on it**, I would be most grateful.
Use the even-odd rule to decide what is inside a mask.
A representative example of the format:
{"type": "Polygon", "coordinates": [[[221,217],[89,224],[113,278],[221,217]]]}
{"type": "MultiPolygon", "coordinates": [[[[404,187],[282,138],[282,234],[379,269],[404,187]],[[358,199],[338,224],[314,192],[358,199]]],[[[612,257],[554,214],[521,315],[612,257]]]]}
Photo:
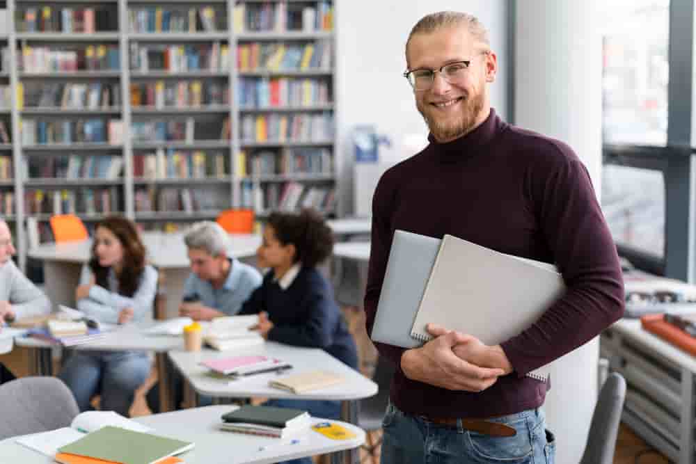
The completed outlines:
{"type": "MultiPolygon", "coordinates": [[[[331,440],[315,431],[308,431],[297,444],[280,444],[276,438],[221,431],[221,416],[236,406],[207,406],[174,413],[137,417],[137,422],[151,426],[154,433],[194,442],[196,446],[180,457],[187,464],[270,464],[288,459],[333,453],[359,447],[365,442],[365,432],[351,424],[338,422],[355,438],[331,440]]],[[[325,422],[315,418],[313,424],[325,422]]],[[[332,421],[336,422],[336,421],[332,421]]],[[[49,464],[53,459],[15,442],[15,438],[0,441],[0,463],[49,464]]]]}

